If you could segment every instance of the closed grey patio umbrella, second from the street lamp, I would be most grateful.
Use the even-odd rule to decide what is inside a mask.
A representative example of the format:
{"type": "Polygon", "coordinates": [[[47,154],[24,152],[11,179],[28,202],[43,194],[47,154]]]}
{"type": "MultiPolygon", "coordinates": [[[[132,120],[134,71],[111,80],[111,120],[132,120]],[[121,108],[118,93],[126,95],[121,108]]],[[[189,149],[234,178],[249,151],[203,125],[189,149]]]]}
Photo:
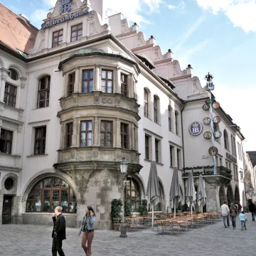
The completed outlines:
{"type": "Polygon", "coordinates": [[[181,187],[178,181],[178,169],[174,168],[174,174],[171,179],[170,199],[171,208],[174,208],[174,218],[176,218],[176,206],[181,201],[181,187]]]}

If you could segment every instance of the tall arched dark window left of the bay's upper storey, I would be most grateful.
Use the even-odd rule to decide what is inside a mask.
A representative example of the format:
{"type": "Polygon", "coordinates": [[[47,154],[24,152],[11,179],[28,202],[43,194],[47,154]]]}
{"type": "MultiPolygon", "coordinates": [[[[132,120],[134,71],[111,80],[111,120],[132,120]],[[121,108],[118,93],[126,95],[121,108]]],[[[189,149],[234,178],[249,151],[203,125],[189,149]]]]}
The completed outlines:
{"type": "Polygon", "coordinates": [[[38,108],[48,107],[50,98],[50,76],[39,80],[38,85],[38,108]]]}

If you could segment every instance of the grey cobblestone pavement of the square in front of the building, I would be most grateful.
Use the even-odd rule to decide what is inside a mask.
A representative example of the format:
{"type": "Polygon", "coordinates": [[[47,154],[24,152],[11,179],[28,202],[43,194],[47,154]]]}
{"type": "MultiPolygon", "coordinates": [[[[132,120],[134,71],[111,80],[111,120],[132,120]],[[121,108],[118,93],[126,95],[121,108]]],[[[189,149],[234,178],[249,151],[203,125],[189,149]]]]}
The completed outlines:
{"type": "MultiPolygon", "coordinates": [[[[128,233],[128,238],[119,238],[117,231],[95,230],[92,244],[93,256],[176,256],[176,255],[248,255],[256,256],[256,223],[248,215],[247,230],[224,228],[215,223],[193,229],[182,235],[153,235],[141,231],[128,233]]],[[[0,255],[51,256],[51,230],[38,225],[1,225],[0,255]]],[[[80,247],[78,230],[67,229],[63,241],[66,256],[85,255],[80,247]]]]}

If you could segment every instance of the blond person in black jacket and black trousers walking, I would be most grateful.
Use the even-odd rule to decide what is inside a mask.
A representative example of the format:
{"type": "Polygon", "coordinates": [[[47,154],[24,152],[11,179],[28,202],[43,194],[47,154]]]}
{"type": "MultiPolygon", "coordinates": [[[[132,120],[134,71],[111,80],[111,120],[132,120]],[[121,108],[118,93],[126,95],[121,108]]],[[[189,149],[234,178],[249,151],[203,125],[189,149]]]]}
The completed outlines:
{"type": "Polygon", "coordinates": [[[62,207],[57,206],[55,213],[53,213],[53,256],[57,256],[57,252],[60,256],[65,256],[62,250],[62,242],[65,237],[65,217],[62,215],[62,207]]]}

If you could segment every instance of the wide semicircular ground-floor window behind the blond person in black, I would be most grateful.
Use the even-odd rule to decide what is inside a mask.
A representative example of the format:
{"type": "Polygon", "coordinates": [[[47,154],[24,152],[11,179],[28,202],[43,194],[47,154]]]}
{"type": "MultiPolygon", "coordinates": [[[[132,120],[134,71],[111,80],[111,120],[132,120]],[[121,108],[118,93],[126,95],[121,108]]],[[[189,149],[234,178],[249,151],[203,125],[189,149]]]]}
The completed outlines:
{"type": "Polygon", "coordinates": [[[61,178],[48,177],[33,187],[26,203],[26,212],[52,213],[61,206],[64,213],[76,213],[77,203],[73,189],[61,178]]]}

